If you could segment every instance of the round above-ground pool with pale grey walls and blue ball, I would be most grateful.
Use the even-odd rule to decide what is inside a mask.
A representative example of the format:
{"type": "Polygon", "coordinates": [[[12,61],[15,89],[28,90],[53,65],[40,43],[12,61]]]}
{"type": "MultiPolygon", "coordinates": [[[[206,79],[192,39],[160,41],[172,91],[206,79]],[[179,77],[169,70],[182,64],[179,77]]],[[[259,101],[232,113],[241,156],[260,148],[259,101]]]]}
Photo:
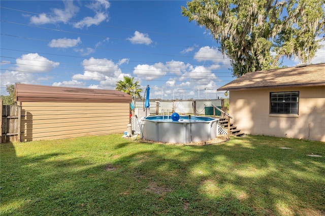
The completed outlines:
{"type": "Polygon", "coordinates": [[[143,119],[141,138],[159,142],[187,143],[211,140],[218,135],[219,119],[173,115],[148,116],[143,119]]]}

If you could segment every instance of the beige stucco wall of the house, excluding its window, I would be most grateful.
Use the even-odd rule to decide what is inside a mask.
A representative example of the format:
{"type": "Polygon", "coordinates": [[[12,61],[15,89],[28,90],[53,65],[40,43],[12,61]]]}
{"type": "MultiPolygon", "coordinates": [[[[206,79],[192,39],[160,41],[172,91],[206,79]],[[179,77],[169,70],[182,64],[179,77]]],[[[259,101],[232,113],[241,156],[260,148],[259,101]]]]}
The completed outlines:
{"type": "Polygon", "coordinates": [[[248,134],[325,141],[325,87],[273,88],[230,92],[232,121],[248,134]],[[299,115],[270,115],[270,92],[299,91],[299,115]]]}

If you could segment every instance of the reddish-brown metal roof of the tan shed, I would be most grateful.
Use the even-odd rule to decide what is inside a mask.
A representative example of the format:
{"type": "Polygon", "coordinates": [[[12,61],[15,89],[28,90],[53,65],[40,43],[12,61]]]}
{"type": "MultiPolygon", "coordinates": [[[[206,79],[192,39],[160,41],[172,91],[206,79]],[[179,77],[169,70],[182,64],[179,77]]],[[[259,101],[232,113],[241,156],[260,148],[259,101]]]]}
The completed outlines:
{"type": "Polygon", "coordinates": [[[117,90],[40,86],[17,83],[17,101],[129,103],[131,96],[117,90]]]}

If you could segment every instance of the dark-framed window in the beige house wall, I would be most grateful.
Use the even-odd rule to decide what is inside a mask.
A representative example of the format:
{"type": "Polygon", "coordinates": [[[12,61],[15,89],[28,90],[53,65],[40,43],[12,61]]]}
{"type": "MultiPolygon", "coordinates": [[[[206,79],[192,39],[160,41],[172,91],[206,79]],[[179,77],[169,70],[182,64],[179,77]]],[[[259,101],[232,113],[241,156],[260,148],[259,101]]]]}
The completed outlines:
{"type": "Polygon", "coordinates": [[[270,114],[297,114],[299,91],[270,92],[270,114]]]}

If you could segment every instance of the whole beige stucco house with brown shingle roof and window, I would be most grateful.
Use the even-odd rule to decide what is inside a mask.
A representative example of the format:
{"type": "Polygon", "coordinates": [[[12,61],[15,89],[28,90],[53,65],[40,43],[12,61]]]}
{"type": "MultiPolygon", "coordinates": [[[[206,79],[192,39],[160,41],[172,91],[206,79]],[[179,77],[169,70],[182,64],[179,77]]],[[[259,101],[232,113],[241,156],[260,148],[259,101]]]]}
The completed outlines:
{"type": "Polygon", "coordinates": [[[325,141],[325,63],[247,73],[222,90],[245,133],[325,141]]]}

